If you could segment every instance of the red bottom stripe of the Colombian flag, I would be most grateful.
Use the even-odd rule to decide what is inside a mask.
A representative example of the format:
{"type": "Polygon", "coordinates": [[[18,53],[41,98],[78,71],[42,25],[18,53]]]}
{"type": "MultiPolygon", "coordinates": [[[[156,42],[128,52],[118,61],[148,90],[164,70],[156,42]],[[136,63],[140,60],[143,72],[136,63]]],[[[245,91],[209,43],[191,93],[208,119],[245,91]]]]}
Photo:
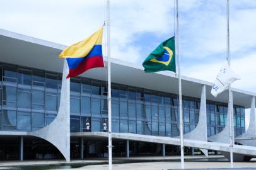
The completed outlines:
{"type": "Polygon", "coordinates": [[[75,77],[78,76],[79,74],[82,74],[83,72],[87,71],[88,69],[93,69],[96,67],[104,67],[104,62],[103,62],[103,57],[102,56],[95,56],[95,57],[90,57],[81,64],[79,64],[76,69],[69,69],[69,74],[67,75],[67,79],[69,77],[75,77]]]}

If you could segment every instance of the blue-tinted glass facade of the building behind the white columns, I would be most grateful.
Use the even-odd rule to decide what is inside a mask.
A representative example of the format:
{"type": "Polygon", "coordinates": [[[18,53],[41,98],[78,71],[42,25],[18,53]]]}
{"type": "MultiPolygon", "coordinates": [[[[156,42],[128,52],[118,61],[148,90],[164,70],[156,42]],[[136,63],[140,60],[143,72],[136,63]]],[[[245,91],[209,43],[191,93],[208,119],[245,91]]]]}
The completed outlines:
{"type": "MultiPolygon", "coordinates": [[[[0,129],[31,131],[52,122],[59,109],[62,74],[0,63],[0,129]]],[[[71,79],[71,132],[107,132],[107,83],[71,79]]],[[[184,133],[199,121],[200,99],[183,96],[184,133]]],[[[227,104],[207,101],[207,133],[226,124],[227,104]]],[[[178,96],[112,84],[112,132],[174,137],[178,96]]],[[[235,135],[245,132],[245,109],[234,106],[235,135]]]]}

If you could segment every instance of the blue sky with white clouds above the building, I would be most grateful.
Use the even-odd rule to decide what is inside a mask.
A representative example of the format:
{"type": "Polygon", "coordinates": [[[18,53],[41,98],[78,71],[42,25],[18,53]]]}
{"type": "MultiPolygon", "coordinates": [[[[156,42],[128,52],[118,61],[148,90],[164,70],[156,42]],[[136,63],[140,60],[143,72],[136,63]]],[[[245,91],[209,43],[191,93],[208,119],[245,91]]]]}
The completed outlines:
{"type": "MultiPolygon", "coordinates": [[[[180,2],[182,74],[213,82],[226,58],[226,1],[180,2]]],[[[141,64],[173,36],[173,0],[110,0],[111,56],[141,64]]],[[[105,0],[1,0],[0,28],[71,45],[103,24],[105,0]]],[[[256,92],[256,1],[230,0],[233,87],[256,92]]],[[[105,52],[105,50],[103,50],[105,52]]]]}

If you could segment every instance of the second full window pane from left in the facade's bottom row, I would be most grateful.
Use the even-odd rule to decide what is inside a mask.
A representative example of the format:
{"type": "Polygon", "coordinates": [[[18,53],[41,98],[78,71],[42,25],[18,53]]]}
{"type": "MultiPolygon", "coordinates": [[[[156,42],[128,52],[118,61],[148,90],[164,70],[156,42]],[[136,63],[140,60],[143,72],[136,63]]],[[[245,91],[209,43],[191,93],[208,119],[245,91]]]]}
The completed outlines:
{"type": "Polygon", "coordinates": [[[26,113],[26,115],[20,115],[18,113],[17,116],[17,130],[30,131],[31,130],[31,116],[30,113],[26,113]]]}

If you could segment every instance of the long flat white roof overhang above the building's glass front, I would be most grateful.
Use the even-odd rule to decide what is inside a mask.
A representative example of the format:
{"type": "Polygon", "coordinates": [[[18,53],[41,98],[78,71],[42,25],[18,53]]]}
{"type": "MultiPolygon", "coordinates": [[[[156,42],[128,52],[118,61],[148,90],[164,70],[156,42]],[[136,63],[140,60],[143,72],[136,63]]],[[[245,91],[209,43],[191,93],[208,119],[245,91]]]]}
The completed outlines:
{"type": "MultiPolygon", "coordinates": [[[[65,45],[40,40],[0,29],[0,61],[23,65],[52,72],[62,72],[63,59],[58,55],[66,48],[65,45]]],[[[107,62],[107,58],[104,58],[107,62]]],[[[105,64],[107,65],[107,64],[105,64]]],[[[141,65],[111,59],[112,82],[145,89],[154,89],[165,93],[178,94],[178,78],[173,72],[144,73],[141,65]]],[[[107,69],[97,68],[86,71],[81,77],[107,80],[107,69]]],[[[206,85],[208,100],[228,103],[228,91],[217,98],[211,95],[212,82],[182,76],[182,94],[201,98],[201,87],[206,85]]],[[[256,93],[232,88],[234,105],[250,108],[252,96],[256,93]]]]}

